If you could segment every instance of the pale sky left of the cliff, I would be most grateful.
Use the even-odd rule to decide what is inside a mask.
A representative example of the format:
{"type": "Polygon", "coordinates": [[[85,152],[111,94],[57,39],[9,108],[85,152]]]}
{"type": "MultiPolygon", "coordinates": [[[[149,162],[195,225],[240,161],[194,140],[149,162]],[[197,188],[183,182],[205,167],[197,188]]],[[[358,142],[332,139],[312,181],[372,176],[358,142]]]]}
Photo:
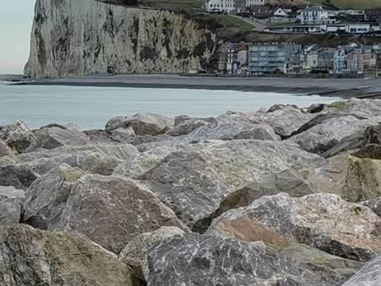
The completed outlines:
{"type": "Polygon", "coordinates": [[[0,1],[0,73],[22,73],[29,55],[35,0],[0,1]]]}

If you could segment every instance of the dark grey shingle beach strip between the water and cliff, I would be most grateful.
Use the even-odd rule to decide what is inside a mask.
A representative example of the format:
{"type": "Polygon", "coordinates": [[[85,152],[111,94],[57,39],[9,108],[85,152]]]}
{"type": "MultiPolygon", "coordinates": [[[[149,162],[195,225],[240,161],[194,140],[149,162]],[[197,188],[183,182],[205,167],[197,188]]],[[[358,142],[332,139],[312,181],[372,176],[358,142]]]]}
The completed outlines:
{"type": "Polygon", "coordinates": [[[381,98],[381,79],[285,77],[206,77],[177,74],[97,74],[15,82],[18,85],[59,85],[163,89],[232,90],[319,95],[340,98],[381,98]]]}

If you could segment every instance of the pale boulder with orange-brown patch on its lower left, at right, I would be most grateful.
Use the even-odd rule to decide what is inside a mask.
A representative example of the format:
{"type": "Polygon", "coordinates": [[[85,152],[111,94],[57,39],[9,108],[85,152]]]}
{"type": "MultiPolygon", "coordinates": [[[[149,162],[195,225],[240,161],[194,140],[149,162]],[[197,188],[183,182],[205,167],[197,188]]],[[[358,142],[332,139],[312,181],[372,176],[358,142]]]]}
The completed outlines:
{"type": "Polygon", "coordinates": [[[367,261],[381,253],[380,227],[381,218],[371,209],[348,203],[337,195],[292,198],[281,193],[221,215],[213,220],[208,233],[246,241],[257,240],[261,232],[280,233],[287,242],[367,261]]]}

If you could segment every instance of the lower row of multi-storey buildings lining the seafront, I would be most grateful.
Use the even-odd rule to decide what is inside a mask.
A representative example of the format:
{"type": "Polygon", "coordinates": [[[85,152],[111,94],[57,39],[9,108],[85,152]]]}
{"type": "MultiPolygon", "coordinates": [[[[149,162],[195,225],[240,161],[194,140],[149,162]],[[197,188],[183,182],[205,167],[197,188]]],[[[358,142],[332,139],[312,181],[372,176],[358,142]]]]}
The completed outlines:
{"type": "Polygon", "coordinates": [[[218,72],[329,73],[376,72],[381,65],[380,45],[321,47],[295,43],[223,43],[217,51],[218,72]]]}

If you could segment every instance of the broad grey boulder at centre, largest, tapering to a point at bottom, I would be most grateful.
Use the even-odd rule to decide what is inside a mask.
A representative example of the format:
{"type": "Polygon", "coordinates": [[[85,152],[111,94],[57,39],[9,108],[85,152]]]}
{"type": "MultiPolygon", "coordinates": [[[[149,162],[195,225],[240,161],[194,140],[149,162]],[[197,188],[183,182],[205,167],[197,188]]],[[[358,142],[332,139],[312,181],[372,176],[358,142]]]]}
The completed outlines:
{"type": "Polygon", "coordinates": [[[118,167],[116,173],[145,181],[196,231],[205,230],[229,194],[288,169],[323,163],[318,155],[285,142],[207,141],[182,146],[169,152],[160,149],[157,157],[142,153],[118,167]]]}

